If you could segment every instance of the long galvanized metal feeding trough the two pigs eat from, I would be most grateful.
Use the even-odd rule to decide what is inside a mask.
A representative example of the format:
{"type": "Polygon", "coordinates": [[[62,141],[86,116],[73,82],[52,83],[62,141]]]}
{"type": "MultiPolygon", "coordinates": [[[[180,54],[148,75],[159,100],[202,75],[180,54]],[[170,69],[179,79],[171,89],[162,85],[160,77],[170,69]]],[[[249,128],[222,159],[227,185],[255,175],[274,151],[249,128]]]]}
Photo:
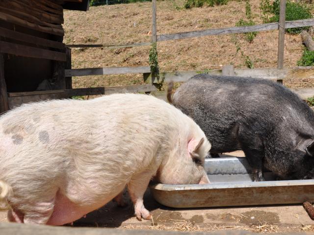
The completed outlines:
{"type": "Polygon", "coordinates": [[[314,180],[275,181],[265,172],[266,181],[253,182],[246,158],[205,160],[210,184],[150,186],[154,198],[174,208],[296,204],[314,201],[314,180]]]}

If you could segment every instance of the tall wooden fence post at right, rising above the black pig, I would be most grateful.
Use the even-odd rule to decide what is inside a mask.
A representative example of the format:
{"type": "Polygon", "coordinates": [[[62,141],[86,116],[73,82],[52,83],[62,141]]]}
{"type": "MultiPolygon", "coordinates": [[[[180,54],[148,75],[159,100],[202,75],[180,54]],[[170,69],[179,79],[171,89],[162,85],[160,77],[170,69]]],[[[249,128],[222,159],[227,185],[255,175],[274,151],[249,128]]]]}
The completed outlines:
{"type": "Polygon", "coordinates": [[[286,24],[286,0],[280,0],[279,13],[279,37],[278,37],[278,64],[277,68],[284,67],[284,50],[285,50],[285,24],[286,24]]]}

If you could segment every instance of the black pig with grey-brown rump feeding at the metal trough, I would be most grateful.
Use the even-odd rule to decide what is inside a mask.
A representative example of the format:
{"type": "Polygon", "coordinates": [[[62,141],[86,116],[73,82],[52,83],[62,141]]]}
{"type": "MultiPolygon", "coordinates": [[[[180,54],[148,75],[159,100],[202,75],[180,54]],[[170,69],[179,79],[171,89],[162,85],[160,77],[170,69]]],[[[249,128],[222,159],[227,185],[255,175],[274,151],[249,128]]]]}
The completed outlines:
{"type": "Polygon", "coordinates": [[[262,181],[314,178],[314,112],[283,85],[255,78],[198,74],[168,100],[203,129],[210,154],[243,150],[262,181]]]}

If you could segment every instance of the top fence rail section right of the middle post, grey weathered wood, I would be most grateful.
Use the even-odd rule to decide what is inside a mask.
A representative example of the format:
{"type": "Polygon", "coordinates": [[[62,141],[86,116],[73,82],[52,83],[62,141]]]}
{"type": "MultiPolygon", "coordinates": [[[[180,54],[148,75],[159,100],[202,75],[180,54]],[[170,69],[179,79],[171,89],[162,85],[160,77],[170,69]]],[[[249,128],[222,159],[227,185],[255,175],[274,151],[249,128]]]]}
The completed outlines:
{"type": "MultiPolygon", "coordinates": [[[[298,21],[287,21],[285,28],[296,28],[303,26],[313,26],[314,19],[298,20],[298,21]]],[[[157,41],[168,41],[184,38],[195,38],[209,35],[222,35],[222,34],[233,34],[233,33],[247,33],[247,32],[258,32],[278,29],[278,23],[259,24],[253,26],[240,26],[240,27],[229,27],[229,28],[213,28],[198,31],[189,31],[172,34],[161,34],[157,36],[157,41]]]]}

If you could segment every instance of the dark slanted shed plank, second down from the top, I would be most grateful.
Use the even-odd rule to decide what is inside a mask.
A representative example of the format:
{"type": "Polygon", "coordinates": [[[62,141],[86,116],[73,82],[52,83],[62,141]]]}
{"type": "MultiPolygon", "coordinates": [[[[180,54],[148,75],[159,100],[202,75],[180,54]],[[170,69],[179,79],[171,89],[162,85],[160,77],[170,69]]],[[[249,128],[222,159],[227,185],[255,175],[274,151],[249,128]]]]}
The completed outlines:
{"type": "Polygon", "coordinates": [[[52,28],[52,27],[47,27],[47,26],[40,26],[38,24],[33,24],[33,23],[30,23],[26,20],[22,20],[18,17],[6,14],[4,12],[0,12],[0,20],[6,21],[9,23],[13,23],[13,24],[18,24],[18,25],[21,25],[23,27],[38,30],[38,31],[44,32],[44,33],[51,33],[51,34],[59,35],[59,36],[64,35],[63,29],[57,29],[57,28],[52,28]]]}

